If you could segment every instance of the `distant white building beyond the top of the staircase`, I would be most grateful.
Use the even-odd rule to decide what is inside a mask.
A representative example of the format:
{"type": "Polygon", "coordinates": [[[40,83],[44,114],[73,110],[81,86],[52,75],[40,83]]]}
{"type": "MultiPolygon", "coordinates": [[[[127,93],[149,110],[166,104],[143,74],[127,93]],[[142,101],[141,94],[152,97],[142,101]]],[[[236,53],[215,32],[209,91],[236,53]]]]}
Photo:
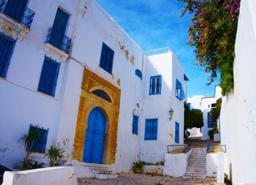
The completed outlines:
{"type": "MultiPolygon", "coordinates": [[[[208,140],[210,137],[208,132],[214,129],[214,122],[211,118],[211,108],[216,106],[217,99],[222,97],[222,88],[220,86],[215,86],[213,97],[203,97],[203,95],[194,95],[189,97],[187,102],[190,108],[200,109],[203,112],[203,127],[201,132],[203,133],[202,140],[208,140]]],[[[198,132],[198,130],[197,130],[198,132]]]]}

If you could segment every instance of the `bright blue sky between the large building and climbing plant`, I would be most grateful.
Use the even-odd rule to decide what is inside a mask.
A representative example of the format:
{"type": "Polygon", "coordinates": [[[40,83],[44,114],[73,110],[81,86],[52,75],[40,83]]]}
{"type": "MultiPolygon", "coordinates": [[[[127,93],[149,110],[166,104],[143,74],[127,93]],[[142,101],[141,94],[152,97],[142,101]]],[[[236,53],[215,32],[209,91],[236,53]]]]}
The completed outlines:
{"type": "Polygon", "coordinates": [[[188,96],[214,95],[209,74],[195,66],[193,48],[187,45],[189,15],[180,18],[184,4],[176,0],[98,0],[102,7],[135,39],[143,50],[170,47],[189,78],[188,96]]]}

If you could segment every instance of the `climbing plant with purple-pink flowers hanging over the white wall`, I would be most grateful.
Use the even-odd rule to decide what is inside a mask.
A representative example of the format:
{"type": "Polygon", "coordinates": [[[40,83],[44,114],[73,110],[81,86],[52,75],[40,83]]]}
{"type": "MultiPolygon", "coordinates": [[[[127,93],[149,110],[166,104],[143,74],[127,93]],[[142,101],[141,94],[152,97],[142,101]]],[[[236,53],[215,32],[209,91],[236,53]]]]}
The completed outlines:
{"type": "Polygon", "coordinates": [[[233,61],[241,0],[178,0],[185,3],[181,17],[192,15],[188,45],[194,46],[198,66],[210,72],[208,85],[220,74],[222,94],[233,89],[233,61]]]}

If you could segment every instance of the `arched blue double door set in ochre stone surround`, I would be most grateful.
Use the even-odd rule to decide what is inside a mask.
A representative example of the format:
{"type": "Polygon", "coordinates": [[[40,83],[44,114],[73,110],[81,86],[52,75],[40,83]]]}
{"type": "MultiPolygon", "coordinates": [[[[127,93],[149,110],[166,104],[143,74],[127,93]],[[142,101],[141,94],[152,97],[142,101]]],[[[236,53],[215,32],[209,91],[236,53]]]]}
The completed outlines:
{"type": "Polygon", "coordinates": [[[91,110],[83,148],[83,162],[102,164],[105,139],[105,116],[99,107],[91,110]]]}

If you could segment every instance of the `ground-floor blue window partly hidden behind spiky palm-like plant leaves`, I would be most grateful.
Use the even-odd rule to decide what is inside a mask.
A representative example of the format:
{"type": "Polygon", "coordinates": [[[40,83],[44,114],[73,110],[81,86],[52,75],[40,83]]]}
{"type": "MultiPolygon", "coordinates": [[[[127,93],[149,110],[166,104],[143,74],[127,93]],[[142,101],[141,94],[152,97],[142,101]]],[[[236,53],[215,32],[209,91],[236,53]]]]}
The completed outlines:
{"type": "Polygon", "coordinates": [[[36,139],[29,141],[30,144],[33,143],[32,151],[45,153],[48,131],[49,129],[43,129],[38,126],[30,125],[29,133],[31,135],[37,135],[36,139]]]}

